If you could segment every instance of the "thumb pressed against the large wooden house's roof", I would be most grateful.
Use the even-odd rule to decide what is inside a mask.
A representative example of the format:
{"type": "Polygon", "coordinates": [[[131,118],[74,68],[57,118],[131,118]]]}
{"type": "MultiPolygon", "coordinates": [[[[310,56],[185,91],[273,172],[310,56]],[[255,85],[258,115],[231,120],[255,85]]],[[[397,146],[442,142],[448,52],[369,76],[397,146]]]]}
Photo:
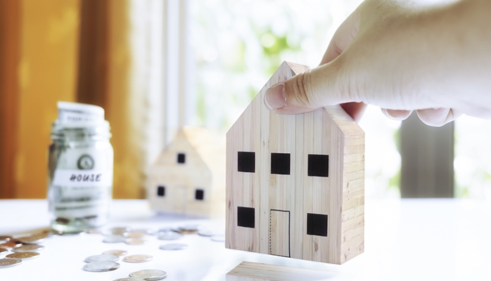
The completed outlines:
{"type": "Polygon", "coordinates": [[[266,90],[264,105],[278,114],[310,112],[326,105],[337,105],[352,100],[340,91],[339,73],[336,60],[300,73],[266,90]]]}

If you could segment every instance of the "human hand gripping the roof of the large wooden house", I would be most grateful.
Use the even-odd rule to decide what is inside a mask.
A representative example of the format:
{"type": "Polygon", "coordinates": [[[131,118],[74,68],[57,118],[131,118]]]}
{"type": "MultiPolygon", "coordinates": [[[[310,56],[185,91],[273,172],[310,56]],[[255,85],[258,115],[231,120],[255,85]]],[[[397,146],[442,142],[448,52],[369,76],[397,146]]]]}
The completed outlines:
{"type": "Polygon", "coordinates": [[[417,110],[431,126],[461,113],[491,117],[491,1],[440,6],[368,0],[334,34],[321,65],[268,89],[273,112],[341,104],[355,120],[366,104],[388,117],[417,110]]]}

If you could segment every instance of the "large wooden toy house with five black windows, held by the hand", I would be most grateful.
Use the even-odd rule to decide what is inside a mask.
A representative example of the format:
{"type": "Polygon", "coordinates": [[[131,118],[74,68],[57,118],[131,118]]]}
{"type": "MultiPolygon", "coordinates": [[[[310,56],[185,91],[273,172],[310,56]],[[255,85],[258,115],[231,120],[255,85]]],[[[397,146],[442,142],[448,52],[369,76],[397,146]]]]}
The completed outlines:
{"type": "Polygon", "coordinates": [[[227,133],[226,247],[326,263],[364,251],[364,132],[339,106],[276,115],[264,92],[227,133]]]}

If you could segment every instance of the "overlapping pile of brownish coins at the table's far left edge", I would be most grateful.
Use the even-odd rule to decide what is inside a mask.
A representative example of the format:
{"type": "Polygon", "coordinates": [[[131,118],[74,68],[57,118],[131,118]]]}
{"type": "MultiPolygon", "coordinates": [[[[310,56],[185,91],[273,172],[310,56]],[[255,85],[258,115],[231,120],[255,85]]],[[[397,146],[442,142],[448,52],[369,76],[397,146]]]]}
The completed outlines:
{"type": "Polygon", "coordinates": [[[5,257],[0,259],[0,268],[18,266],[24,260],[37,258],[39,251],[44,249],[44,246],[39,243],[42,243],[49,235],[49,230],[18,238],[1,235],[0,256],[5,255],[5,257]],[[12,252],[10,253],[10,251],[12,252]]]}

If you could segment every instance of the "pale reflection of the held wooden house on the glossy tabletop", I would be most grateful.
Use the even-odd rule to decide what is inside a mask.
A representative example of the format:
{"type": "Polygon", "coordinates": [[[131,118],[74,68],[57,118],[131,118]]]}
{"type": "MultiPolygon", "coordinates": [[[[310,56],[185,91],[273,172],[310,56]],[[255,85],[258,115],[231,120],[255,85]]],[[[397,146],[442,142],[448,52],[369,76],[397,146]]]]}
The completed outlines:
{"type": "Polygon", "coordinates": [[[227,273],[227,281],[314,281],[326,280],[336,273],[290,266],[276,266],[266,263],[243,261],[227,273]]]}

